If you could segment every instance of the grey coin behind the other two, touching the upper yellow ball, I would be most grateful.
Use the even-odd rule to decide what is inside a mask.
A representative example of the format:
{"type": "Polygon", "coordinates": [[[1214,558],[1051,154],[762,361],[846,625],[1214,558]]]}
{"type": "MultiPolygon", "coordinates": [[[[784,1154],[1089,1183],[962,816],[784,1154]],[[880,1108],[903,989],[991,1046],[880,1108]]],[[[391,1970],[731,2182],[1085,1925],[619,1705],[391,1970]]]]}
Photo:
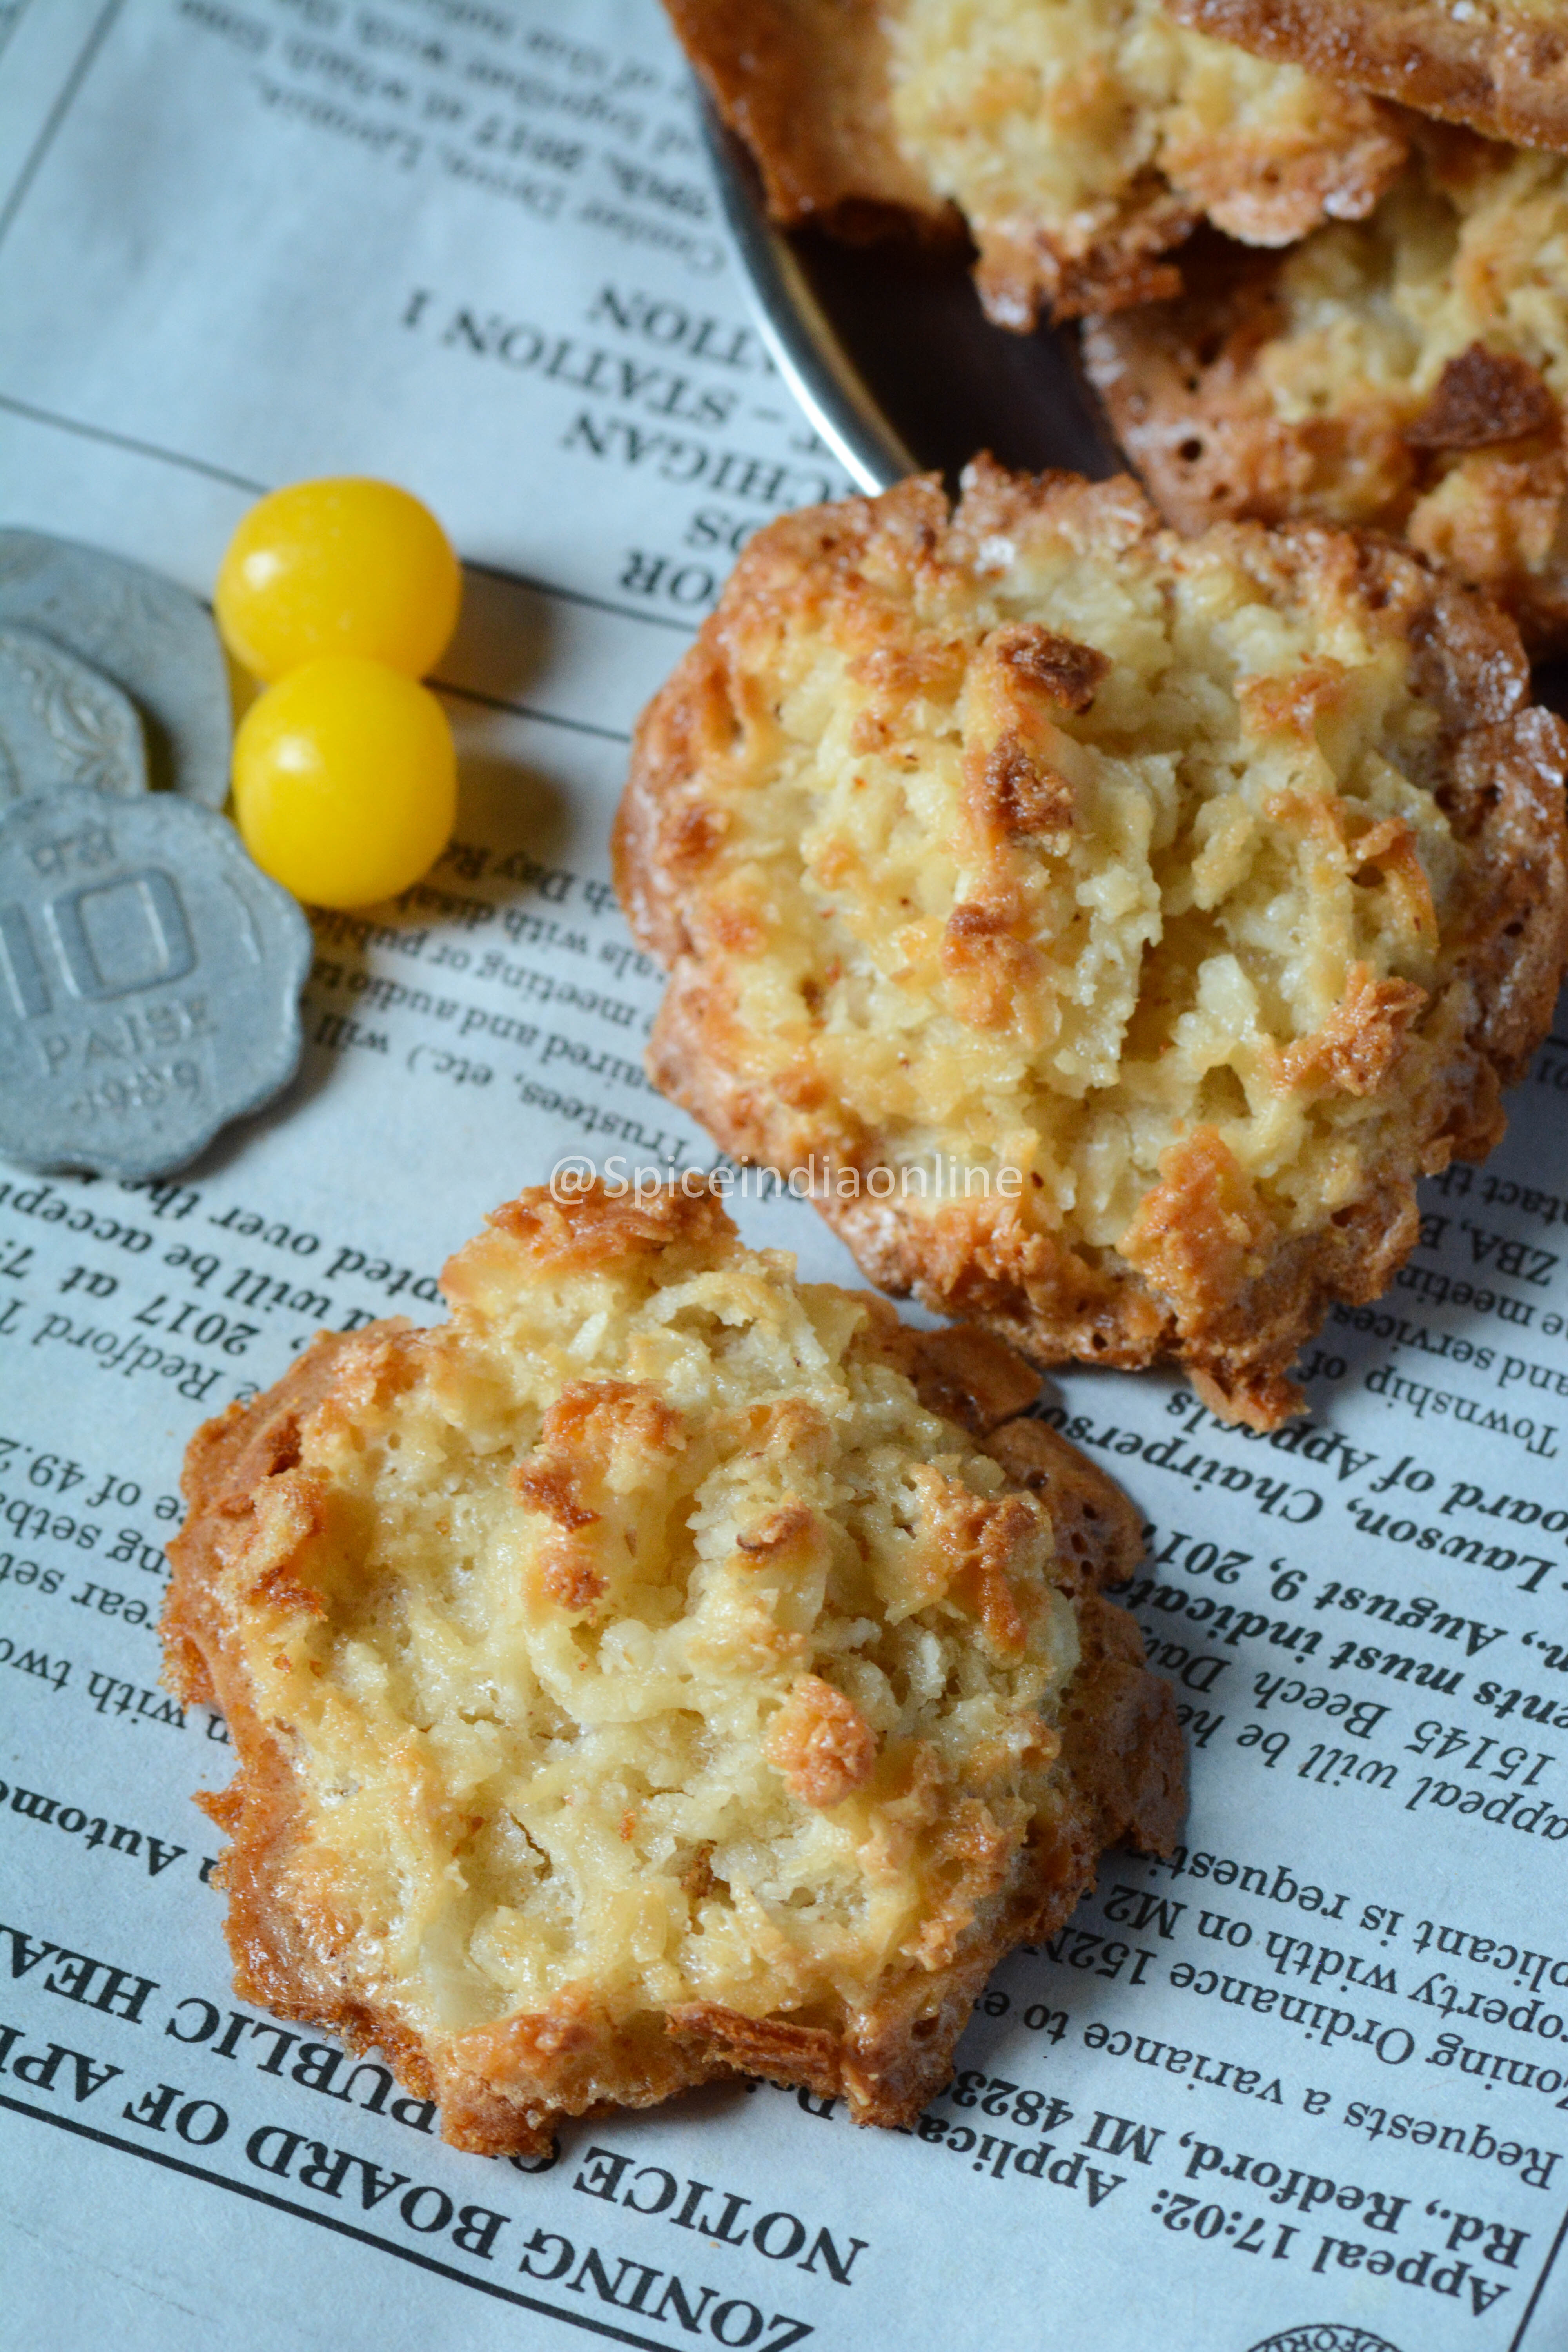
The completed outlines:
{"type": "Polygon", "coordinates": [[[141,713],[155,786],[221,809],[233,715],[209,614],[174,581],[103,548],[0,532],[0,626],[33,628],[113,680],[141,713]]]}

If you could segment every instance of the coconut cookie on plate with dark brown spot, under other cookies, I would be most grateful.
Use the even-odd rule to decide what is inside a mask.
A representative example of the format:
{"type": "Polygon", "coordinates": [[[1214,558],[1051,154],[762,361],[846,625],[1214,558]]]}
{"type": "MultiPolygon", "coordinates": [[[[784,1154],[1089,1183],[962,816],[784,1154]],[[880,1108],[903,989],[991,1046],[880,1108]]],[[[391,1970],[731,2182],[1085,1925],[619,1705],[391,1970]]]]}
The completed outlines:
{"type": "Polygon", "coordinates": [[[1161,513],[1403,532],[1568,647],[1568,160],[1420,125],[1361,223],[1093,320],[1088,374],[1161,513]]]}

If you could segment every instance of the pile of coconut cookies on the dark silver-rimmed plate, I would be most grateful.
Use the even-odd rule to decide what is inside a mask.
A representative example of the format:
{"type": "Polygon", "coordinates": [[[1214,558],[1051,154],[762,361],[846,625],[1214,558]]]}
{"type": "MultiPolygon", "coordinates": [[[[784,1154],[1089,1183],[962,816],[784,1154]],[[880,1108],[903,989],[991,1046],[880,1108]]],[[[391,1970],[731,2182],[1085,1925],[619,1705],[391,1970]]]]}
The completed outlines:
{"type": "Polygon", "coordinates": [[[1568,644],[1568,21],[1544,0],[670,0],[780,221],[961,223],[1084,318],[1182,532],[1373,527],[1568,644]],[[1507,143],[1505,143],[1507,141],[1507,143]]]}

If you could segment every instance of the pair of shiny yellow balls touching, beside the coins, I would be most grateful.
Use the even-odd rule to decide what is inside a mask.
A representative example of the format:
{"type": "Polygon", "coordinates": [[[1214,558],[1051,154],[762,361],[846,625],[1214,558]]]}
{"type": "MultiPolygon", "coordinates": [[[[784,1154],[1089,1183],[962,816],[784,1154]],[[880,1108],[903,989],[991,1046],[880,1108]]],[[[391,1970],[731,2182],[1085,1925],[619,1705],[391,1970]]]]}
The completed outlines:
{"type": "Polygon", "coordinates": [[[235,814],[263,873],[313,906],[371,906],[435,863],[456,816],[456,750],[418,684],[463,581],[430,508],[393,482],[275,489],[219,569],[235,661],[268,684],[235,736],[235,814]]]}

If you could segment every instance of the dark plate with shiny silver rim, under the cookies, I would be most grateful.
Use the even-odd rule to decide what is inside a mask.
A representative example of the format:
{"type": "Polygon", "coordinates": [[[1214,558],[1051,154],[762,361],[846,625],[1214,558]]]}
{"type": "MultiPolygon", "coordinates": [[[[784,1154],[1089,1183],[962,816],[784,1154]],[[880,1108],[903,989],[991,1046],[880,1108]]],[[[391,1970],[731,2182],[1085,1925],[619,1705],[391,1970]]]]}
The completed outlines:
{"type": "Polygon", "coordinates": [[[860,489],[931,468],[957,485],[978,449],[1027,473],[1117,470],[1070,334],[992,327],[964,252],[785,235],[766,219],[750,155],[708,103],[703,122],[769,350],[860,489]]]}

